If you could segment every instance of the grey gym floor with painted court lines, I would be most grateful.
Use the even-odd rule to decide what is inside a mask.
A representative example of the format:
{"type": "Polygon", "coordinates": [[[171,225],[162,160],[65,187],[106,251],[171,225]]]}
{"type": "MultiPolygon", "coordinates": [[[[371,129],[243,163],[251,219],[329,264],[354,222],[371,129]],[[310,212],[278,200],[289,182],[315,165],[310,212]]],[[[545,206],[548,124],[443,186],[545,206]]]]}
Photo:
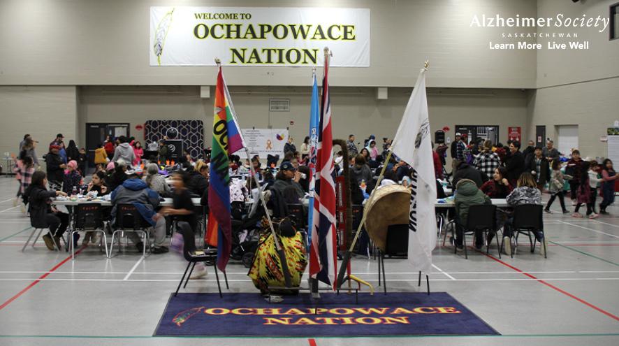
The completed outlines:
{"type": "MultiPolygon", "coordinates": [[[[184,271],[174,253],[142,259],[129,247],[105,259],[87,247],[75,261],[39,239],[21,252],[30,223],[13,207],[17,182],[0,177],[0,345],[239,345],[248,338],[157,338],[152,334],[184,271]]],[[[548,199],[548,195],[545,195],[548,199]]],[[[569,199],[566,200],[570,204],[569,199]]],[[[548,259],[526,245],[514,259],[437,246],[432,291],[446,291],[500,336],[251,338],[252,345],[619,345],[619,208],[598,219],[544,215],[548,259]]],[[[469,238],[470,244],[470,238],[469,238]]],[[[186,262],[185,262],[186,263],[186,262]]],[[[377,261],[355,257],[353,272],[377,287],[377,261]]],[[[389,291],[425,291],[404,259],[386,259],[389,291]]],[[[228,266],[228,292],[256,292],[247,269],[228,266]]],[[[305,281],[304,281],[305,284],[305,281]]],[[[212,268],[187,292],[215,292],[212,268]]],[[[240,326],[230,326],[239,328],[240,326]]]]}

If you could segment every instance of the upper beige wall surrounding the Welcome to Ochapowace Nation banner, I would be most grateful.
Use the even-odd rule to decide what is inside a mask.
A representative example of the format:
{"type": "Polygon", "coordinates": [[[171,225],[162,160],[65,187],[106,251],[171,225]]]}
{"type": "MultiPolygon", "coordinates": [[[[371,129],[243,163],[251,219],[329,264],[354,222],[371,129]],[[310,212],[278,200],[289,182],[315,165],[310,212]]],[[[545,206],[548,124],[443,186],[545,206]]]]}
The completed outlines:
{"type": "MultiPolygon", "coordinates": [[[[535,87],[534,51],[490,52],[504,29],[469,27],[474,14],[534,16],[534,0],[3,0],[0,85],[214,85],[214,67],[149,66],[150,6],[370,8],[370,67],[334,68],[334,86],[409,87],[430,59],[429,87],[535,87]]],[[[304,86],[310,76],[307,67],[226,71],[229,85],[304,86]]]]}

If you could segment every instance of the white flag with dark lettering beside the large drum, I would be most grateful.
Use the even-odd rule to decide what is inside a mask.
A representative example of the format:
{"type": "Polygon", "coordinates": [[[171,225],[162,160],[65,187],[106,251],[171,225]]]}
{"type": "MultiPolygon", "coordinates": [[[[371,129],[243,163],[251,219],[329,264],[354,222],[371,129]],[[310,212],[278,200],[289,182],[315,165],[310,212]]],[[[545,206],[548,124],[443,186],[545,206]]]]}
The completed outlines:
{"type": "Polygon", "coordinates": [[[408,258],[415,271],[432,271],[432,250],[437,241],[436,178],[432,160],[425,71],[421,69],[406,106],[391,151],[414,168],[409,215],[408,258]]]}

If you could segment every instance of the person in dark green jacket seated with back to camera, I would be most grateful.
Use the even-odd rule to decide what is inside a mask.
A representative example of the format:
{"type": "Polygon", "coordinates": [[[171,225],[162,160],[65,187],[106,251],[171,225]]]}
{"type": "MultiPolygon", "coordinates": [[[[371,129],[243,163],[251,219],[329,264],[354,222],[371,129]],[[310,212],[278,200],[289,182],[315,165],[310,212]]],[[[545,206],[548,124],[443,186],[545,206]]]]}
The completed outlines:
{"type": "MultiPolygon", "coordinates": [[[[458,169],[458,172],[460,170],[458,169]]],[[[456,174],[458,174],[456,172],[456,174]]],[[[456,241],[455,244],[458,250],[463,249],[463,227],[467,224],[469,216],[469,207],[474,204],[490,204],[490,197],[486,196],[477,187],[476,182],[470,179],[460,179],[456,185],[456,196],[453,199],[456,207],[456,241]]],[[[488,233],[488,244],[493,238],[494,233],[488,233]]],[[[451,243],[454,243],[453,238],[451,243]]],[[[480,250],[483,246],[483,236],[481,231],[475,231],[475,248],[480,250]]]]}

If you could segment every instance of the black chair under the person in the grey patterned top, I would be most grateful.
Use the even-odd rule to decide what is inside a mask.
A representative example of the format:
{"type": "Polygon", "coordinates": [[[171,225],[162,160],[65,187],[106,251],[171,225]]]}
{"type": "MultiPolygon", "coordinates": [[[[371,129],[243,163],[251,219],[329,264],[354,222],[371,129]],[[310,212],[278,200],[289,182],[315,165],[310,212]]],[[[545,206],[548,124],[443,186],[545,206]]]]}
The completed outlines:
{"type": "MultiPolygon", "coordinates": [[[[529,237],[531,252],[535,251],[535,243],[537,243],[537,237],[531,238],[531,233],[541,232],[542,239],[546,238],[544,234],[543,209],[544,206],[541,206],[541,204],[522,204],[514,207],[511,235],[515,237],[515,244],[514,251],[511,252],[512,258],[514,258],[514,252],[518,249],[518,235],[526,234],[529,237]]],[[[544,258],[548,258],[546,256],[546,242],[542,241],[541,246],[544,247],[544,258]]]]}

